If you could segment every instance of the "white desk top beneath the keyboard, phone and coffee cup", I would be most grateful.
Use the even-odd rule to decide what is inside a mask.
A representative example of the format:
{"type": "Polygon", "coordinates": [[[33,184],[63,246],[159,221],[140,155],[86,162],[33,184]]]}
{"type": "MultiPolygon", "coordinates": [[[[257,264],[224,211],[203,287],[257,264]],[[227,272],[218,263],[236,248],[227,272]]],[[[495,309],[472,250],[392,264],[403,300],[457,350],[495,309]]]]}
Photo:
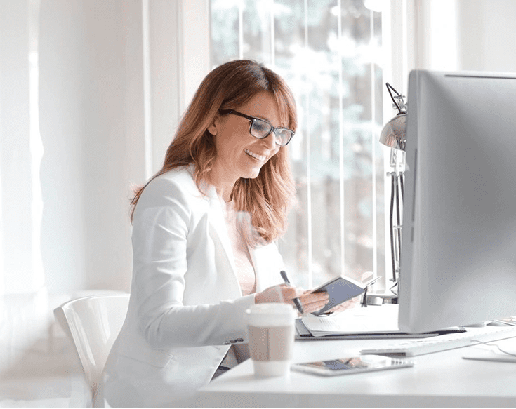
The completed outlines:
{"type": "MultiPolygon", "coordinates": [[[[392,340],[296,341],[296,362],[358,354],[392,340]]],[[[503,347],[516,338],[498,341],[503,347]]],[[[199,390],[200,408],[516,408],[516,363],[468,361],[468,347],[416,356],[412,368],[336,377],[258,378],[251,360],[199,390]]]]}

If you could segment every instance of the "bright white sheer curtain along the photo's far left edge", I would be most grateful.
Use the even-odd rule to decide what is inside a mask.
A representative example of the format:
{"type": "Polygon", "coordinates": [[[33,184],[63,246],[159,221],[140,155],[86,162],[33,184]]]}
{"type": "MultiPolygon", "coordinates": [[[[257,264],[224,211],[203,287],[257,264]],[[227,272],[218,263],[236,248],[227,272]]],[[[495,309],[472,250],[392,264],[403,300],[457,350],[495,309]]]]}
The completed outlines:
{"type": "Polygon", "coordinates": [[[39,238],[42,149],[38,112],[39,1],[0,4],[0,292],[44,285],[39,238]]]}

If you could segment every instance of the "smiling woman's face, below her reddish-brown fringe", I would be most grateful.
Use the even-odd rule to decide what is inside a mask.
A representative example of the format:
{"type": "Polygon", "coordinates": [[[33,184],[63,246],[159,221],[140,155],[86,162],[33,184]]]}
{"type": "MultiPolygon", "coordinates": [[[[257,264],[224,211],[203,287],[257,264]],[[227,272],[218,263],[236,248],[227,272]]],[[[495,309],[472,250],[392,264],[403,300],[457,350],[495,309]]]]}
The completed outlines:
{"type": "MultiPolygon", "coordinates": [[[[286,126],[279,122],[279,109],[270,93],[263,91],[235,111],[254,118],[265,119],[272,126],[286,126]]],[[[225,114],[218,116],[208,128],[215,135],[217,156],[213,170],[227,183],[236,182],[239,177],[253,179],[260,169],[277,154],[279,145],[274,142],[274,134],[258,139],[249,133],[251,122],[242,116],[225,114]]]]}

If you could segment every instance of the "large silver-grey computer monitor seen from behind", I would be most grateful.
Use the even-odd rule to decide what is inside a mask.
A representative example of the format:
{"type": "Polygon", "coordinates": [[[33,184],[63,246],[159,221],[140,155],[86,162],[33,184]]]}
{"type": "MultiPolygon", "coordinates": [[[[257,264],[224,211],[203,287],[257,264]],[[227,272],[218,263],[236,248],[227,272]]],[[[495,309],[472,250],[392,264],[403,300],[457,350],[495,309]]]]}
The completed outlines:
{"type": "Polygon", "coordinates": [[[409,76],[399,328],[516,315],[516,74],[409,76]]]}

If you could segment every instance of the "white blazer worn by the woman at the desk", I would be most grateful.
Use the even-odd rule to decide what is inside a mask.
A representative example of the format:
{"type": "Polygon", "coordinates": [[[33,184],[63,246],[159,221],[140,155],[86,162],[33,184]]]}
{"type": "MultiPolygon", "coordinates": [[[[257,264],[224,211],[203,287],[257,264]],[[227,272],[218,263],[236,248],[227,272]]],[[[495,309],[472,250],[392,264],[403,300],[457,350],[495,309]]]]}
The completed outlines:
{"type": "MultiPolygon", "coordinates": [[[[104,369],[114,408],[188,405],[230,345],[248,342],[244,311],[254,295],[242,296],[216,189],[205,193],[190,166],[160,175],[140,196],[131,299],[104,369]]],[[[249,253],[257,292],[281,282],[274,243],[249,253]]]]}

